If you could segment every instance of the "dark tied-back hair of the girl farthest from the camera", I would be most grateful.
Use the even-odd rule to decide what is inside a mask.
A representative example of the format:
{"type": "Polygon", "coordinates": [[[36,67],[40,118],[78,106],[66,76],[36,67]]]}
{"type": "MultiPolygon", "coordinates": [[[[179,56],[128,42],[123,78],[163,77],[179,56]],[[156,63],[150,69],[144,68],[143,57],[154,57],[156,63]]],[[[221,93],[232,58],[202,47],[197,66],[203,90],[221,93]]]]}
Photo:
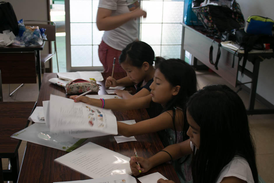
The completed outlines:
{"type": "Polygon", "coordinates": [[[144,62],[153,65],[154,51],[143,41],[133,41],[122,50],[119,56],[119,63],[127,62],[135,67],[141,67],[144,62]]]}

